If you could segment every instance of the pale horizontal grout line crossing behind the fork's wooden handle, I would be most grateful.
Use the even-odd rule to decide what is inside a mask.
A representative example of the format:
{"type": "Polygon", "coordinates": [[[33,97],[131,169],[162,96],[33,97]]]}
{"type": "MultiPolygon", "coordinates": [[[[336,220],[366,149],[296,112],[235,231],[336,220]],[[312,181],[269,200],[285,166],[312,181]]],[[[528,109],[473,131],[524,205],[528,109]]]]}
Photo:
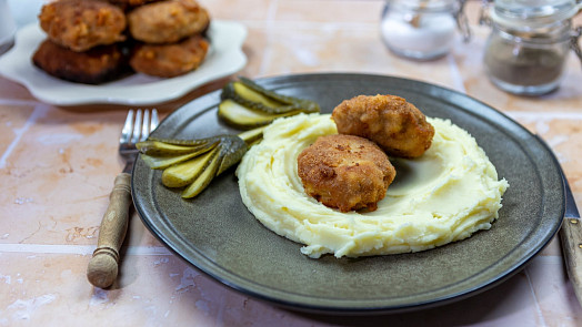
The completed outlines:
{"type": "MultiPolygon", "coordinates": [[[[27,254],[73,254],[91,255],[96,245],[53,245],[53,244],[0,244],[2,253],[27,253],[27,254]]],[[[123,248],[126,255],[172,255],[163,246],[128,246],[123,248]]]]}

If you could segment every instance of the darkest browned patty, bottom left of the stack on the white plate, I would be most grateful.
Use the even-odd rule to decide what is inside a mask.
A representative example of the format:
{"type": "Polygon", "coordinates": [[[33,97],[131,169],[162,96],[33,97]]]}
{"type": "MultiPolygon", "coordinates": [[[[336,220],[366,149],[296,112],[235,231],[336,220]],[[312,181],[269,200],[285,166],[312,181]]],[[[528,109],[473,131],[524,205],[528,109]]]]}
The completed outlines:
{"type": "Polygon", "coordinates": [[[44,40],[34,52],[32,62],[56,78],[86,84],[108,82],[129,71],[127,55],[118,44],[74,52],[44,40]]]}

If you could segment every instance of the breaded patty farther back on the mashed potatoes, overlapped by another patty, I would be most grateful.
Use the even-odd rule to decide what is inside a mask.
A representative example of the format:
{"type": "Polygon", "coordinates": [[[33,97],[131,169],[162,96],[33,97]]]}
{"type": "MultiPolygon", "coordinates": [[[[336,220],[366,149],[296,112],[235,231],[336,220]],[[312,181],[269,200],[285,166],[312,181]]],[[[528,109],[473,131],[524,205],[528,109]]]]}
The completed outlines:
{"type": "Polygon", "coordinates": [[[359,95],[333,109],[340,134],[374,141],[389,155],[418,157],[432,144],[434,127],[424,114],[395,95],[359,95]]]}

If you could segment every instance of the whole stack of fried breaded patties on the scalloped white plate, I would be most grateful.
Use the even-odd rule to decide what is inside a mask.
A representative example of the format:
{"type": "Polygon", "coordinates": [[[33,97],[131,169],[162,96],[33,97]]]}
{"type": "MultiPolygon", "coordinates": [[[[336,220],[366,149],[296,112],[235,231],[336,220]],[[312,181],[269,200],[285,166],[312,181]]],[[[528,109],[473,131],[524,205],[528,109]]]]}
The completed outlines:
{"type": "Polygon", "coordinates": [[[137,71],[173,78],[204,60],[210,18],[195,0],[60,0],[43,6],[47,32],[32,61],[59,79],[100,84],[137,71]]]}

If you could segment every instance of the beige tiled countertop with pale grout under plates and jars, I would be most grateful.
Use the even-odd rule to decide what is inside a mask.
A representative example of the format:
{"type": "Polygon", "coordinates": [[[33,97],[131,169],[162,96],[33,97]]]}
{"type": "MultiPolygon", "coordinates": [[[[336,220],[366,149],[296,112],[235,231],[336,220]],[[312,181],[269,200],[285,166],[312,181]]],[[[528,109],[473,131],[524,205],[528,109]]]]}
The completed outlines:
{"type": "MultiPolygon", "coordinates": [[[[379,35],[383,1],[202,0],[215,19],[239,21],[250,78],[305,72],[405,76],[481,100],[541,135],[553,149],[582,206],[582,70],[570,57],[561,88],[541,98],[495,89],[484,76],[489,33],[451,54],[413,62],[391,54],[379,35]]],[[[579,24],[582,20],[578,18],[579,24]]],[[[228,79],[158,106],[162,115],[228,79]]],[[[462,302],[407,314],[329,317],[249,298],[182,262],[133,214],[112,289],[93,288],[87,264],[114,176],[123,163],[118,135],[127,108],[56,108],[0,78],[0,326],[581,326],[582,308],[554,239],[523,270],[462,302]]]]}

